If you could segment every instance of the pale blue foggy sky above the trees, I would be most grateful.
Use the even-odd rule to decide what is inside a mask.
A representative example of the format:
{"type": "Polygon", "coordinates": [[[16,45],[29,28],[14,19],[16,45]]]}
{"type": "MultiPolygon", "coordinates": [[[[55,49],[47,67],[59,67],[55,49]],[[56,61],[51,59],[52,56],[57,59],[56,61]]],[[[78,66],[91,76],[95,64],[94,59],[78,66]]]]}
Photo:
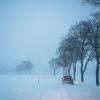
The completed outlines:
{"type": "Polygon", "coordinates": [[[0,0],[0,66],[48,67],[61,37],[94,8],[81,0],[0,0]]]}

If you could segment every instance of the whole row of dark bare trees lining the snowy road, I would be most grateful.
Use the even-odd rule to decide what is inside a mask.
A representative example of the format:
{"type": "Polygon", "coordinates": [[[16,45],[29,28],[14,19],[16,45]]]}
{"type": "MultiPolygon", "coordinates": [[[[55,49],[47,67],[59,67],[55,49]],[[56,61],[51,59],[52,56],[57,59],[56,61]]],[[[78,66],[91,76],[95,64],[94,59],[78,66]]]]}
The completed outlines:
{"type": "Polygon", "coordinates": [[[57,50],[57,57],[50,61],[55,69],[63,68],[63,75],[70,75],[73,67],[75,80],[76,65],[80,62],[81,81],[90,61],[96,61],[96,85],[99,85],[100,68],[100,11],[92,14],[89,20],[81,20],[71,26],[67,36],[62,38],[57,50]]]}

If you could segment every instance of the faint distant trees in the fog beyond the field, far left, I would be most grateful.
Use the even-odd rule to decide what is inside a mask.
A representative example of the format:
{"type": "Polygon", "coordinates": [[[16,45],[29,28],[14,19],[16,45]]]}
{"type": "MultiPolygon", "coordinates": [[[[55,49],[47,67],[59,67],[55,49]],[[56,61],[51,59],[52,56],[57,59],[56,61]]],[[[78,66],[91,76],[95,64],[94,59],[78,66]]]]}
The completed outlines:
{"type": "Polygon", "coordinates": [[[34,65],[29,60],[24,60],[16,67],[6,69],[4,66],[0,67],[0,74],[30,74],[34,65]]]}

